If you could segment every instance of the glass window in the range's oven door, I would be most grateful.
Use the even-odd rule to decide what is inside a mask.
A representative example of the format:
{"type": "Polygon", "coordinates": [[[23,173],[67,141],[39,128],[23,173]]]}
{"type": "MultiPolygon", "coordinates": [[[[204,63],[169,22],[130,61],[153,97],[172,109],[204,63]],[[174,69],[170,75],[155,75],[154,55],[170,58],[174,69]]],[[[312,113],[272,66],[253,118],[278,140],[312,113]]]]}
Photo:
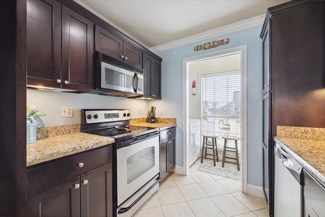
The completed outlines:
{"type": "Polygon", "coordinates": [[[154,147],[142,149],[127,159],[127,184],[154,167],[154,147]]]}

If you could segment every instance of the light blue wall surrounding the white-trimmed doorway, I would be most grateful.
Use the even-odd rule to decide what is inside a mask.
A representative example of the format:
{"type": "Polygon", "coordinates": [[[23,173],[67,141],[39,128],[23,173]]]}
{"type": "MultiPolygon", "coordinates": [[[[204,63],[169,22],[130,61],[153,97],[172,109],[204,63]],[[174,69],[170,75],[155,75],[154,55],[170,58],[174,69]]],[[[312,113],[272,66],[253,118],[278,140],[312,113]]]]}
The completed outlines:
{"type": "MultiPolygon", "coordinates": [[[[163,111],[163,117],[176,117],[176,165],[183,166],[183,58],[247,45],[247,172],[248,184],[262,187],[262,25],[238,30],[177,48],[160,51],[161,101],[152,105],[163,111]],[[194,51],[194,46],[229,38],[230,43],[208,50],[194,51]]],[[[150,104],[150,103],[149,103],[150,104]]]]}

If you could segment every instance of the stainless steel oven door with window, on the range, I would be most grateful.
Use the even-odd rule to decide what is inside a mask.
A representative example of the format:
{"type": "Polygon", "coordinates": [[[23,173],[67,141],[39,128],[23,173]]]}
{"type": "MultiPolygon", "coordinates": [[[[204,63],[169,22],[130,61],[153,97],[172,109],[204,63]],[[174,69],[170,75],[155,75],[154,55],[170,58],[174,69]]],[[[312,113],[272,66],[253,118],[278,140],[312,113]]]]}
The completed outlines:
{"type": "Polygon", "coordinates": [[[117,206],[120,206],[159,173],[159,136],[131,143],[116,153],[117,206]]]}

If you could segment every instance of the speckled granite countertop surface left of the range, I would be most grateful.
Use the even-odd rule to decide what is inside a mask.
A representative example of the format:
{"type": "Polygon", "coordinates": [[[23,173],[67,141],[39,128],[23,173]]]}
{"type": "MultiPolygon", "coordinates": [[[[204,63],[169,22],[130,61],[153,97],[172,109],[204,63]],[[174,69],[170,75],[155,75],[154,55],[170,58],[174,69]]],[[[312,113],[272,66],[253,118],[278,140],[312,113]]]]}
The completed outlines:
{"type": "Polygon", "coordinates": [[[88,133],[70,133],[38,139],[27,144],[27,167],[114,143],[114,138],[88,133]]]}

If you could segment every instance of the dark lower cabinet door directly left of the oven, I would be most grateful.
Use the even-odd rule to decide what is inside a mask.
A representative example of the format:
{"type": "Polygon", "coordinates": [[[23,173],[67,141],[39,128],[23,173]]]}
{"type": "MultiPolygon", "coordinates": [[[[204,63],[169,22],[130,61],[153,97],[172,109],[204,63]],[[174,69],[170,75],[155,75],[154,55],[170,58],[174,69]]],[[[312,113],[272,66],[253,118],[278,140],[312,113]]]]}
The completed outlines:
{"type": "Polygon", "coordinates": [[[81,180],[81,216],[113,216],[112,163],[87,172],[81,180]]]}

